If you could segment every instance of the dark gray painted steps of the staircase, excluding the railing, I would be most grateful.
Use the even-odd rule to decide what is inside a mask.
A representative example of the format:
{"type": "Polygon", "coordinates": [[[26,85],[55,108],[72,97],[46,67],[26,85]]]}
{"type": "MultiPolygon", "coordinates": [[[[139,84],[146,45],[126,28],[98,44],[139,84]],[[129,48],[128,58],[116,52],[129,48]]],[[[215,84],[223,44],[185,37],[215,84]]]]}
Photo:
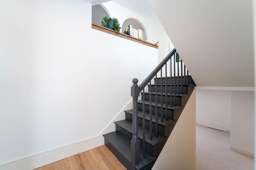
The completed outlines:
{"type": "MultiPolygon", "coordinates": [[[[192,78],[189,77],[189,83],[193,82],[192,78]]],[[[177,78],[176,78],[177,79],[177,78]]],[[[167,79],[168,80],[168,79],[167,79]]],[[[150,170],[156,158],[159,156],[161,150],[163,149],[168,137],[170,136],[172,129],[174,128],[178,118],[180,117],[184,106],[186,105],[190,94],[194,89],[194,84],[183,84],[183,88],[181,89],[180,85],[180,93],[178,93],[178,85],[170,85],[167,84],[167,105],[165,101],[165,78],[162,78],[162,113],[163,113],[163,122],[161,122],[161,85],[160,79],[157,80],[158,84],[151,84],[151,91],[152,91],[152,140],[150,140],[150,114],[149,114],[149,97],[150,93],[145,92],[145,132],[146,132],[146,140],[145,140],[145,151],[146,157],[143,158],[142,156],[142,139],[143,139],[143,129],[142,129],[142,121],[143,121],[143,112],[142,112],[142,100],[138,100],[138,138],[140,141],[140,163],[136,165],[137,170],[150,170]],[[157,86],[157,93],[156,93],[156,86],[157,86]],[[172,86],[172,92],[174,92],[174,88],[176,89],[176,106],[170,106],[171,96],[174,94],[170,94],[170,87],[172,86]],[[155,102],[155,97],[157,94],[157,101],[155,102]],[[158,137],[156,137],[156,111],[155,108],[157,106],[158,111],[158,137]],[[167,115],[168,121],[166,121],[166,106],[167,106],[167,115]]],[[[170,78],[168,80],[170,83],[170,78]]],[[[177,81],[176,81],[177,83],[177,81]]],[[[149,86],[148,86],[149,87],[149,86]]],[[[142,94],[141,94],[142,96],[142,94]]],[[[174,104],[174,98],[172,98],[172,102],[174,104]]],[[[105,145],[111,150],[111,152],[120,160],[120,162],[128,169],[131,168],[131,140],[132,140],[132,115],[133,110],[126,110],[125,112],[125,119],[121,121],[116,121],[116,131],[103,135],[105,145]]]]}

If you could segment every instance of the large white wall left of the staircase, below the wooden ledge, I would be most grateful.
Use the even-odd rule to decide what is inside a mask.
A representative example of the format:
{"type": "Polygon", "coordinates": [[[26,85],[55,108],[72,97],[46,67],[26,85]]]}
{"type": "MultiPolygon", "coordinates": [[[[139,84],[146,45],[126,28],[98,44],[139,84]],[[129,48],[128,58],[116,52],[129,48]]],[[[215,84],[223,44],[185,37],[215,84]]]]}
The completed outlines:
{"type": "Polygon", "coordinates": [[[0,164],[100,135],[156,66],[91,17],[83,0],[0,1],[0,164]]]}

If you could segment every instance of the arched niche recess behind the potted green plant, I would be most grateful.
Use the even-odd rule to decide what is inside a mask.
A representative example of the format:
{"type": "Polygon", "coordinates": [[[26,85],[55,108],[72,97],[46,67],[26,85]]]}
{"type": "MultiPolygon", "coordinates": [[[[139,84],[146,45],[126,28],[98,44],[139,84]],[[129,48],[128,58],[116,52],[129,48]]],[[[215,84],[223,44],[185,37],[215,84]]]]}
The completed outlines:
{"type": "Polygon", "coordinates": [[[111,17],[106,7],[102,4],[92,6],[92,23],[101,25],[102,18],[111,17]]]}

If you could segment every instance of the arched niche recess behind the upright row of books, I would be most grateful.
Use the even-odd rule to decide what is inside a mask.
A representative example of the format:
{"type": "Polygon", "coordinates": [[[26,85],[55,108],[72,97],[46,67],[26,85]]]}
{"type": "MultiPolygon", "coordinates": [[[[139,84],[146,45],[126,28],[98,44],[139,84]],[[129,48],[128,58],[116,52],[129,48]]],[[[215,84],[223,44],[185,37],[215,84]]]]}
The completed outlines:
{"type": "Polygon", "coordinates": [[[141,29],[143,31],[143,37],[142,39],[144,41],[147,41],[148,39],[148,33],[144,27],[144,25],[137,19],[135,18],[128,18],[124,21],[123,25],[122,25],[122,33],[125,31],[125,28],[128,26],[128,25],[132,25],[133,28],[135,29],[141,29]]]}

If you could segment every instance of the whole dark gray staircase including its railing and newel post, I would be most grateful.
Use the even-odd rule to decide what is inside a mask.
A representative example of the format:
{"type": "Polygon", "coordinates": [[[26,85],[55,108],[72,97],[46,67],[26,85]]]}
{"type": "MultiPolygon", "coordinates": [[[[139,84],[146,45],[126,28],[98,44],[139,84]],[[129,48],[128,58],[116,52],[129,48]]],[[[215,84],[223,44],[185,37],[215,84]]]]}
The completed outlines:
{"type": "Polygon", "coordinates": [[[194,89],[194,81],[182,61],[178,62],[181,71],[177,76],[173,71],[175,64],[173,69],[170,64],[169,69],[174,76],[168,76],[167,71],[162,76],[162,67],[167,70],[167,62],[175,63],[176,55],[173,49],[140,86],[136,78],[132,80],[133,109],[124,111],[125,119],[115,122],[116,131],[103,135],[105,145],[128,170],[153,167],[194,89]],[[146,86],[148,92],[145,92],[146,86]],[[138,100],[139,96],[142,100],[138,100]]]}

